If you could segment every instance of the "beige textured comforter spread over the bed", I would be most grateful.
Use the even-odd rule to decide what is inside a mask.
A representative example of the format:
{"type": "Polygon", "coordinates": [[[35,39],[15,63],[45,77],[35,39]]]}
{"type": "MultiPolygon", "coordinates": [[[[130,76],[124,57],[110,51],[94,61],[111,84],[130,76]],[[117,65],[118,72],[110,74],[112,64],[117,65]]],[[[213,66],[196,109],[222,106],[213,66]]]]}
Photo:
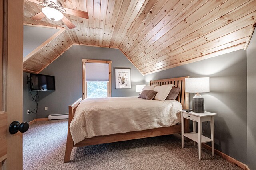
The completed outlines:
{"type": "Polygon", "coordinates": [[[85,138],[168,127],[181,121],[178,101],[138,97],[87,98],[70,123],[74,143],[85,138]]]}

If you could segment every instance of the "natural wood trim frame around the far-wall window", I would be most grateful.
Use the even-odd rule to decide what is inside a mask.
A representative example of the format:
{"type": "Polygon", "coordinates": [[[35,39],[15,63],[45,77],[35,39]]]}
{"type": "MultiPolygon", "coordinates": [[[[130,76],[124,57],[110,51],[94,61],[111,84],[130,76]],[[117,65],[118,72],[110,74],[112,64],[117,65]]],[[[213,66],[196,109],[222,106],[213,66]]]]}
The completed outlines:
{"type": "Polygon", "coordinates": [[[111,68],[112,68],[111,64],[112,64],[112,61],[82,59],[82,63],[83,63],[83,99],[87,98],[87,82],[86,82],[86,78],[85,78],[86,63],[107,63],[108,64],[108,97],[111,97],[111,68]]]}

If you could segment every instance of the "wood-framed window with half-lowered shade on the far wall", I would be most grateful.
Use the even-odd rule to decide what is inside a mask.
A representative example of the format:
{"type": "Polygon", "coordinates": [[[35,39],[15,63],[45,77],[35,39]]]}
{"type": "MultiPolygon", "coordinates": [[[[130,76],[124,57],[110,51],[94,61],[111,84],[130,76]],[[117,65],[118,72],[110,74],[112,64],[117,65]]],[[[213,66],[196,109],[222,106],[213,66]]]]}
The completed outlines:
{"type": "Polygon", "coordinates": [[[83,99],[111,97],[112,61],[83,59],[83,99]]]}

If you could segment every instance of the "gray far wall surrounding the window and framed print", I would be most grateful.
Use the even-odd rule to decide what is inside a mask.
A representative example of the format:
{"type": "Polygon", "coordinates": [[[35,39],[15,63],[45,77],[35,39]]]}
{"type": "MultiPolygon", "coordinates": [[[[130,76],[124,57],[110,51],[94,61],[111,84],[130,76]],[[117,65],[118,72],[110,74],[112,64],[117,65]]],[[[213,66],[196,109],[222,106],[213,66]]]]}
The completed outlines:
{"type": "MultiPolygon", "coordinates": [[[[82,96],[82,59],[112,61],[112,97],[138,96],[136,85],[144,84],[144,76],[122,54],[119,49],[73,45],[40,74],[55,76],[56,90],[38,92],[40,96],[36,118],[48,117],[49,114],[68,113],[68,105],[82,96]],[[132,89],[115,89],[114,68],[131,68],[132,89]],[[48,107],[48,111],[44,107],[48,107]]],[[[27,93],[25,91],[25,93],[27,93]]],[[[25,95],[24,95],[25,96],[25,95]]],[[[30,101],[25,101],[24,108],[30,101]]],[[[24,114],[26,116],[26,114],[24,114]]],[[[24,119],[27,119],[24,117],[24,119]]]]}

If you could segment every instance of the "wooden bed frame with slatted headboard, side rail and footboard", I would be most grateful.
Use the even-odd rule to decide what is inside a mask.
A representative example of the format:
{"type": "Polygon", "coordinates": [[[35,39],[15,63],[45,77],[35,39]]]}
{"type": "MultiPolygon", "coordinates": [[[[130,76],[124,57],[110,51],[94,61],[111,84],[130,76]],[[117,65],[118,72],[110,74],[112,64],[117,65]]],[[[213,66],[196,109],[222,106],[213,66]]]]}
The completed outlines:
{"type": "MultiPolygon", "coordinates": [[[[185,78],[186,77],[179,77],[179,78],[170,78],[164,80],[153,80],[150,81],[150,85],[165,85],[165,84],[174,84],[175,87],[180,88],[180,94],[177,97],[177,101],[182,104],[184,109],[188,109],[188,93],[185,92],[185,78]]],[[[118,141],[127,141],[132,139],[140,139],[146,137],[155,137],[161,135],[170,135],[174,133],[181,133],[181,124],[176,124],[170,127],[160,127],[155,129],[148,129],[144,131],[134,131],[134,132],[127,132],[127,133],[117,133],[113,135],[105,135],[105,136],[95,136],[92,138],[86,138],[79,143],[74,144],[70,133],[70,123],[74,117],[76,108],[82,101],[82,98],[79,98],[76,102],[72,105],[68,106],[68,137],[67,137],[67,144],[66,144],[66,151],[65,151],[65,158],[64,162],[70,162],[71,151],[74,147],[82,147],[87,145],[96,145],[102,143],[111,143],[111,142],[118,142],[118,141]]],[[[187,120],[187,119],[185,119],[187,120]]],[[[185,132],[189,131],[189,124],[188,121],[185,121],[185,132]]]]}

